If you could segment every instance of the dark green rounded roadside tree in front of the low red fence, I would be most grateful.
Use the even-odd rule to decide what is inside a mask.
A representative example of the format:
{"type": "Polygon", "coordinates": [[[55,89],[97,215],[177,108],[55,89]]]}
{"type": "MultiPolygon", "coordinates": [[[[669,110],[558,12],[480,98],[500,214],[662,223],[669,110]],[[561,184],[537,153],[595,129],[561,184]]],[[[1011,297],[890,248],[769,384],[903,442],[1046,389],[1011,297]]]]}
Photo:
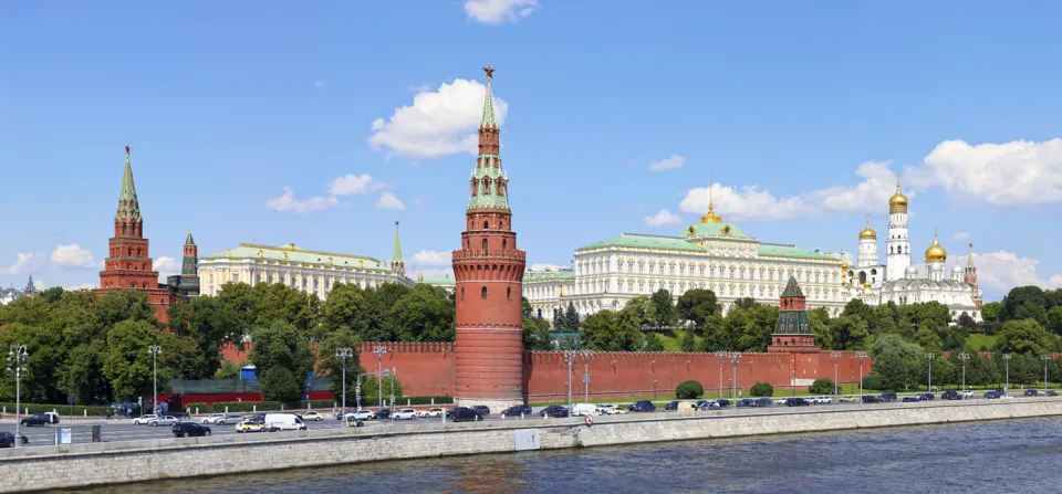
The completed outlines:
{"type": "Polygon", "coordinates": [[[313,351],[304,330],[274,320],[251,330],[250,360],[261,379],[262,396],[273,401],[302,398],[306,376],[313,369],[313,351]]]}

